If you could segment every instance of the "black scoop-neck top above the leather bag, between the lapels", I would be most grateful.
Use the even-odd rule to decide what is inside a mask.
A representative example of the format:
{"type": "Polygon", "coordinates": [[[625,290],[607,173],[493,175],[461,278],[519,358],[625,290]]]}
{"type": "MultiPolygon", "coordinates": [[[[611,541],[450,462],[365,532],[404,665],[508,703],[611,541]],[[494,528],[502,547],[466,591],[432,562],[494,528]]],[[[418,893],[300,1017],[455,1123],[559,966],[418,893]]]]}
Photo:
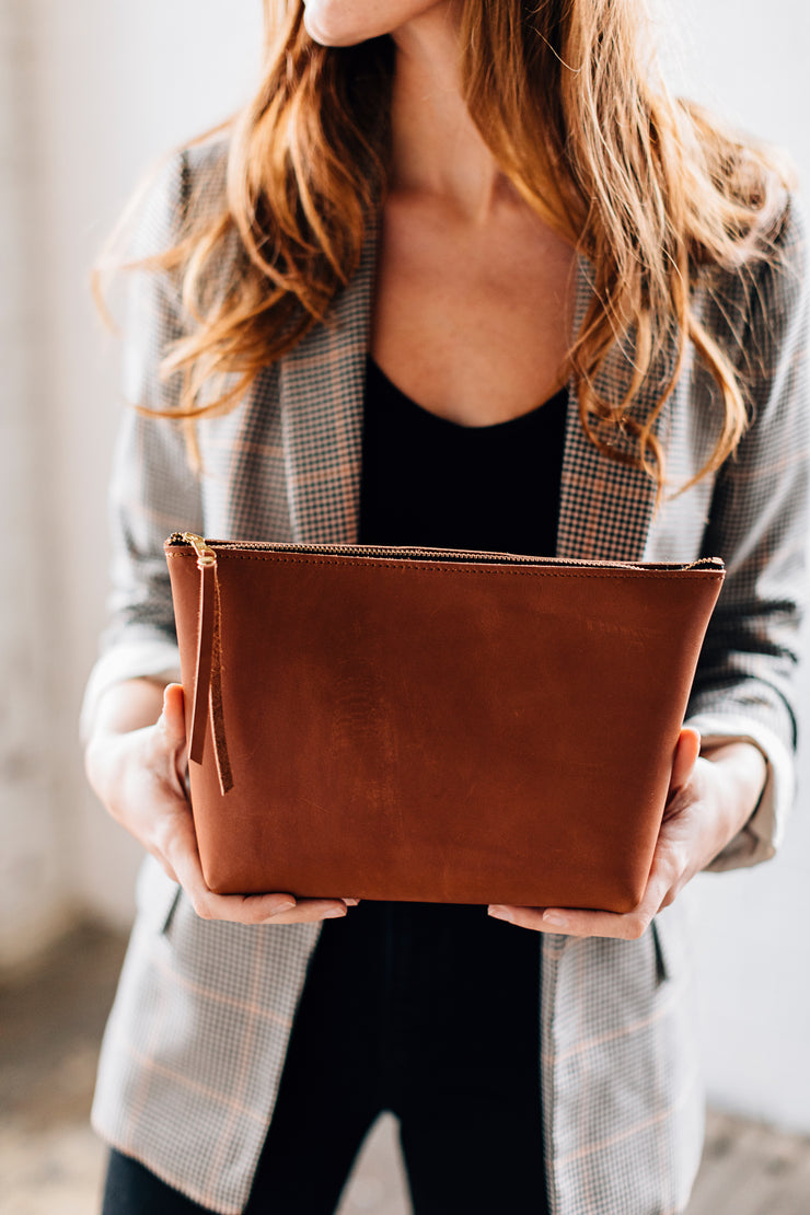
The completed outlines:
{"type": "Polygon", "coordinates": [[[553,556],[568,392],[509,422],[421,408],[369,357],[359,542],[553,556]]]}

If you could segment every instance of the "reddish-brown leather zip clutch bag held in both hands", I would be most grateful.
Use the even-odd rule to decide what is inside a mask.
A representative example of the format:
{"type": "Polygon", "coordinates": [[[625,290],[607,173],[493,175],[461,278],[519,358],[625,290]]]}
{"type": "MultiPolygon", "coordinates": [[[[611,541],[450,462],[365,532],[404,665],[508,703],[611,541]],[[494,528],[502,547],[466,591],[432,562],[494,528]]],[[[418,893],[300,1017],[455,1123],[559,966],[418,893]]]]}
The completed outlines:
{"type": "Polygon", "coordinates": [[[165,553],[213,891],[639,903],[719,559],[165,553]]]}

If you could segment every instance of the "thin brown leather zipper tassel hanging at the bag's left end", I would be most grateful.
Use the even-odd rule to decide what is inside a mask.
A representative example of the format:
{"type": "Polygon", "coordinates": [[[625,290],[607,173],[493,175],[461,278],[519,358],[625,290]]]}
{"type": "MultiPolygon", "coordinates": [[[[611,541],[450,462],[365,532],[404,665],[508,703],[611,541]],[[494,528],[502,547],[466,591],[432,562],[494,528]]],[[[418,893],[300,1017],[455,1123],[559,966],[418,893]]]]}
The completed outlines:
{"type": "Polygon", "coordinates": [[[199,570],[199,623],[197,631],[197,678],[189,731],[188,758],[203,762],[206,724],[211,723],[214,758],[220,790],[227,793],[233,787],[233,776],[225,739],[221,680],[221,606],[220,581],[216,573],[216,553],[199,536],[183,533],[183,541],[197,553],[199,570]]]}

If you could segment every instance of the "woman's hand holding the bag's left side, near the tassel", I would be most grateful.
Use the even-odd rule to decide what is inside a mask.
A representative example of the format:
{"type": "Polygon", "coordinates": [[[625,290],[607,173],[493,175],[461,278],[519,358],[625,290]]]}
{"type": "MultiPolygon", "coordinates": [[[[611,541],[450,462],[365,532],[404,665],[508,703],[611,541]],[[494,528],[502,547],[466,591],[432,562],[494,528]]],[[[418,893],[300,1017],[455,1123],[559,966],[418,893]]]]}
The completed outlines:
{"type": "Polygon", "coordinates": [[[180,882],[198,916],[256,925],[311,923],[346,915],[347,905],[356,899],[214,894],[200,868],[183,786],[185,769],[180,684],[169,684],[162,691],[149,680],[136,679],[111,689],[87,745],[87,778],[112,816],[160,861],[172,881],[180,882]],[[141,725],[142,720],[153,724],[141,725]]]}

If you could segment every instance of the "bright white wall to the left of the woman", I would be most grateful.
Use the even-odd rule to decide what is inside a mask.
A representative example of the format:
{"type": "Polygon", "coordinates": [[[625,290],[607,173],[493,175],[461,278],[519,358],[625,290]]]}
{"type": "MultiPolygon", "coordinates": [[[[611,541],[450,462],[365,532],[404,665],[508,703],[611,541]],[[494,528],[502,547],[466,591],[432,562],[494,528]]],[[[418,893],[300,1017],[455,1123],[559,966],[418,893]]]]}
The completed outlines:
{"type": "MultiPolygon", "coordinates": [[[[23,0],[30,4],[32,0],[23,0]]],[[[81,689],[104,618],[109,448],[119,409],[118,344],[102,328],[89,270],[129,192],[174,143],[250,95],[260,4],[228,0],[33,0],[39,164],[49,200],[43,282],[50,343],[40,367],[58,459],[61,526],[58,738],[70,886],[125,922],[138,849],[87,791],[77,744],[81,689]]]]}

